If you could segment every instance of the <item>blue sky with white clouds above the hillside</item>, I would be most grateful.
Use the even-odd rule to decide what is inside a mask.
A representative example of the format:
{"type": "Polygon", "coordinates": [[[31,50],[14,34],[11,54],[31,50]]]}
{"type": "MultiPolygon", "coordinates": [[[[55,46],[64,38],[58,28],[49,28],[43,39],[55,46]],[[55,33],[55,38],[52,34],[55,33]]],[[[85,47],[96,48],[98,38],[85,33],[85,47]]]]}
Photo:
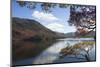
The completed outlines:
{"type": "Polygon", "coordinates": [[[33,19],[48,29],[60,33],[76,31],[75,27],[69,26],[67,22],[70,15],[69,8],[56,7],[51,10],[52,12],[45,13],[41,10],[39,5],[36,6],[36,9],[31,10],[26,7],[20,7],[16,1],[12,1],[12,17],[33,19]]]}

